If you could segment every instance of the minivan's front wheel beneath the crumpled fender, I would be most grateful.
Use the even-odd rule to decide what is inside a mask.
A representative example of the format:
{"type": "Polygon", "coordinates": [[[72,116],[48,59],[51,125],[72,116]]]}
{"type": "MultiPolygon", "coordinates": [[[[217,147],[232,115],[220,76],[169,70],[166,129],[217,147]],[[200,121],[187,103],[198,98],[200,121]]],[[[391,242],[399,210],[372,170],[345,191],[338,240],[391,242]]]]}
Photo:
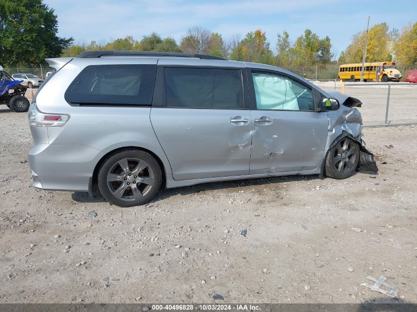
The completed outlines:
{"type": "Polygon", "coordinates": [[[348,137],[340,139],[326,156],[326,175],[334,179],[351,176],[358,166],[359,144],[348,137]]]}

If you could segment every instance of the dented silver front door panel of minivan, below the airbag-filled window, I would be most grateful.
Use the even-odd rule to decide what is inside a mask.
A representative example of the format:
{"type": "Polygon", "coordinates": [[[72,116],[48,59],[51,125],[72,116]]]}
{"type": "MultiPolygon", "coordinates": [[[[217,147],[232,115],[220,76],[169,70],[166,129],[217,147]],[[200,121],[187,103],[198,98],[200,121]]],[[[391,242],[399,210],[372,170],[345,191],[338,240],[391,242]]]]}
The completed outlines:
{"type": "MultiPolygon", "coordinates": [[[[252,110],[249,173],[312,170],[320,166],[327,142],[325,112],[252,110]],[[267,116],[270,124],[255,120],[267,116]]],[[[265,118],[264,118],[265,119],[265,118]]]]}

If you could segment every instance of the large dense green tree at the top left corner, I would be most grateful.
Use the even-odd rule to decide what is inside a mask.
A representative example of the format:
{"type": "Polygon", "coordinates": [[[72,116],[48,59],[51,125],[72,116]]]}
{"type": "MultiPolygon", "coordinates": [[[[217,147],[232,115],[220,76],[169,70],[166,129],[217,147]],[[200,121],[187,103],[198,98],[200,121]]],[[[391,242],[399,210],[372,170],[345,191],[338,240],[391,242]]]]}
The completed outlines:
{"type": "Polygon", "coordinates": [[[57,36],[54,9],[42,0],[0,0],[0,56],[4,65],[37,66],[59,57],[73,38],[57,36]]]}

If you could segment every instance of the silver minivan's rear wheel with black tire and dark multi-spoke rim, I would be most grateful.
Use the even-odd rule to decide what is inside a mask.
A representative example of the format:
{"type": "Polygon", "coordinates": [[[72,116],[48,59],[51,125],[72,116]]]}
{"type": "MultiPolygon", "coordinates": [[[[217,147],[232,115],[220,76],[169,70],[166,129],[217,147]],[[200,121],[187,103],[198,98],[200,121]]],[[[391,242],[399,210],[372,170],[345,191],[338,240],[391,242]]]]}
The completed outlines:
{"type": "Polygon", "coordinates": [[[151,154],[142,150],[126,149],[109,155],[98,173],[101,194],[119,207],[149,202],[158,192],[161,181],[159,164],[151,154]]]}

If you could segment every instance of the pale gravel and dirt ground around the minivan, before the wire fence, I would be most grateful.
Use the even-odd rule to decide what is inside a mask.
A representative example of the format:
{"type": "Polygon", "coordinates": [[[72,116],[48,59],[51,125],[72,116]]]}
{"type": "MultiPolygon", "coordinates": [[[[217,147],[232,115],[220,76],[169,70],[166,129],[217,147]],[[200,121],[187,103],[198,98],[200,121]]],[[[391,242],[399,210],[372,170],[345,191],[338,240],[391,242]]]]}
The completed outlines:
{"type": "Polygon", "coordinates": [[[367,276],[417,303],[417,126],[364,129],[378,175],[210,183],[136,208],[31,187],[27,115],[0,106],[0,133],[0,303],[389,298],[367,276]]]}

